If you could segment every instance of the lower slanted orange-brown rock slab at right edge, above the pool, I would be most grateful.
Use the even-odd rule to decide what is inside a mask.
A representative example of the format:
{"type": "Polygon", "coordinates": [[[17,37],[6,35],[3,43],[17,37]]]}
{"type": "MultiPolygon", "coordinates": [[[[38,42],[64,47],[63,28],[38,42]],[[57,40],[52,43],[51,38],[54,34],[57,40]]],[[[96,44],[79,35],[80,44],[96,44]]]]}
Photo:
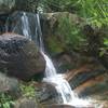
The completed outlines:
{"type": "Polygon", "coordinates": [[[91,79],[76,90],[80,96],[91,96],[96,100],[108,100],[108,73],[91,79]]]}

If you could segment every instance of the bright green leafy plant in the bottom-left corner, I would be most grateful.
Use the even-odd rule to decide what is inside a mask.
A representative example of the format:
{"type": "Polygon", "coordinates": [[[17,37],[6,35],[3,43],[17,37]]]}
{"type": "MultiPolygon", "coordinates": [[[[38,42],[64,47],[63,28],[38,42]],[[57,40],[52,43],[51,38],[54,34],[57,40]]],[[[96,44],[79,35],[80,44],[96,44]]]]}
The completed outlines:
{"type": "Polygon", "coordinates": [[[8,93],[0,93],[0,108],[13,108],[14,98],[8,93]]]}

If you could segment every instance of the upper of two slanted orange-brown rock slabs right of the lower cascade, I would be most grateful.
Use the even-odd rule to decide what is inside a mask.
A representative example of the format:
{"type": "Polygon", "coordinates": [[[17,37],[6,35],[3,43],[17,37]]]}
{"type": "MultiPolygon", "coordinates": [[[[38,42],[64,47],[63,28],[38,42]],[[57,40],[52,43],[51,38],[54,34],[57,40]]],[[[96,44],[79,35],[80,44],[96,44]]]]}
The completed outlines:
{"type": "Polygon", "coordinates": [[[85,57],[85,59],[80,60],[80,65],[76,69],[66,72],[66,79],[72,90],[107,72],[105,67],[93,57],[85,57]]]}

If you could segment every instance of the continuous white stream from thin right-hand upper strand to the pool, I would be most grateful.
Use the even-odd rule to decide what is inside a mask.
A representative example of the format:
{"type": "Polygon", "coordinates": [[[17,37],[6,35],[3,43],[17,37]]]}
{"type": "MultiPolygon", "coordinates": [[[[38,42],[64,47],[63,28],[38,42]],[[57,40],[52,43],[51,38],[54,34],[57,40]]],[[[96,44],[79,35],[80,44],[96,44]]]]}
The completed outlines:
{"type": "Polygon", "coordinates": [[[73,91],[71,91],[68,81],[66,81],[62,75],[58,75],[56,72],[53,62],[44,53],[39,14],[37,14],[37,22],[38,22],[38,29],[39,29],[40,51],[44,56],[44,59],[46,60],[45,78],[43,79],[43,81],[56,84],[55,89],[60,94],[64,104],[70,104],[73,106],[89,105],[89,102],[78,98],[78,96],[73,93],[73,91]]]}

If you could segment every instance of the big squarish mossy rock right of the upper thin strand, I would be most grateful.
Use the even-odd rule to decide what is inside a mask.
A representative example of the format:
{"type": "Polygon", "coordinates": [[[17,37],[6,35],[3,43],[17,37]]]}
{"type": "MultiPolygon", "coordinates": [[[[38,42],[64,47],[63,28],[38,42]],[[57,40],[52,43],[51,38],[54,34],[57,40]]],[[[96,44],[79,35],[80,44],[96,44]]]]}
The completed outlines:
{"type": "Polygon", "coordinates": [[[83,45],[85,38],[81,32],[84,21],[68,12],[48,13],[43,16],[43,40],[51,54],[71,52],[83,45]]]}

